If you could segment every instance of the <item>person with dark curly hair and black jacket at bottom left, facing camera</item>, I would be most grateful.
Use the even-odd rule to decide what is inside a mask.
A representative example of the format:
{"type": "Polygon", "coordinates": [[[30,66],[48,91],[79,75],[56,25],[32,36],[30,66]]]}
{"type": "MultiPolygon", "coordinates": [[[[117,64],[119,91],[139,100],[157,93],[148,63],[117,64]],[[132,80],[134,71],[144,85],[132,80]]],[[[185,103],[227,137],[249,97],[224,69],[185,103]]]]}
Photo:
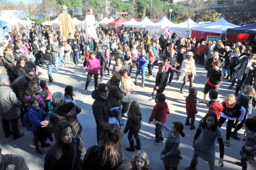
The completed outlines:
{"type": "Polygon", "coordinates": [[[55,140],[45,155],[44,170],[59,170],[60,167],[62,170],[82,170],[86,148],[82,138],[73,136],[69,122],[62,121],[56,125],[55,140]]]}

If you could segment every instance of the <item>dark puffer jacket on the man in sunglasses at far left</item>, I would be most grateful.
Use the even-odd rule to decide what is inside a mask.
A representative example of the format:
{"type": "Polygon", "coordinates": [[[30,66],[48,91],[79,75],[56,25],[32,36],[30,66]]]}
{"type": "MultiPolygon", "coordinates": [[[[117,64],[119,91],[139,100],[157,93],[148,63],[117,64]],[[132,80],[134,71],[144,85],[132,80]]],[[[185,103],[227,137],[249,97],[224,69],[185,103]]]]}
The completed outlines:
{"type": "Polygon", "coordinates": [[[25,90],[27,89],[27,85],[30,81],[31,80],[26,75],[24,75],[14,80],[10,86],[23,106],[26,104],[25,90]]]}

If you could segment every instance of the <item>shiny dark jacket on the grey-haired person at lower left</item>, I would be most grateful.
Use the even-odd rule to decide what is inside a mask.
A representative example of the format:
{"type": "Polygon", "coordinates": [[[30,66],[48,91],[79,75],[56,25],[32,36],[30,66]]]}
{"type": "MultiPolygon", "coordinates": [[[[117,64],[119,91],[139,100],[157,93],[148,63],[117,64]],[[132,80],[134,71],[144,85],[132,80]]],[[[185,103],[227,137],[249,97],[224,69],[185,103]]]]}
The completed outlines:
{"type": "Polygon", "coordinates": [[[76,115],[81,112],[81,108],[72,102],[64,103],[57,107],[55,114],[55,124],[60,121],[68,121],[74,129],[74,135],[81,136],[82,126],[76,115]]]}

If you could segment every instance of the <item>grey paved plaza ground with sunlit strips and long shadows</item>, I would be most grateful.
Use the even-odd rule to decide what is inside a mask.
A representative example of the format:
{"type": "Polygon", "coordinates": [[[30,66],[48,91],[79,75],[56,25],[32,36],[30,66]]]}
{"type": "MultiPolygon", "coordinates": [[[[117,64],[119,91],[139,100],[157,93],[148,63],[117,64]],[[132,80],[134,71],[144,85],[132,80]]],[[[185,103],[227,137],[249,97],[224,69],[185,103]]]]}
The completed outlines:
{"type": "MultiPolygon", "coordinates": [[[[73,63],[73,62],[72,62],[73,63]]],[[[76,94],[75,100],[76,104],[81,107],[82,111],[78,114],[78,120],[80,121],[83,130],[81,133],[81,137],[84,140],[84,144],[86,148],[89,148],[91,145],[97,144],[96,139],[96,123],[92,113],[92,104],[94,99],[91,97],[91,93],[94,90],[94,79],[91,79],[90,85],[88,87],[88,91],[86,94],[83,94],[83,90],[85,87],[86,77],[85,71],[82,69],[82,63],[80,60],[79,66],[73,66],[72,63],[67,63],[67,67],[60,68],[61,71],[53,71],[53,78],[55,81],[53,83],[49,83],[49,90],[54,93],[55,91],[61,91],[64,93],[64,88],[67,85],[72,85],[74,87],[74,91],[76,94]]],[[[111,70],[114,61],[111,64],[111,70]]],[[[42,66],[46,69],[45,66],[42,66]]],[[[206,79],[204,73],[204,66],[196,65],[197,67],[197,76],[194,79],[193,87],[198,90],[198,101],[203,99],[203,88],[204,82],[206,79]]],[[[110,70],[110,72],[111,72],[110,70]]],[[[155,95],[153,98],[150,98],[150,94],[153,91],[153,87],[155,85],[155,77],[158,70],[158,67],[154,68],[153,78],[148,79],[148,76],[145,78],[145,88],[141,87],[141,76],[139,76],[138,85],[135,86],[134,91],[131,92],[131,101],[136,100],[140,104],[140,108],[142,111],[142,126],[139,132],[139,137],[141,140],[141,149],[146,151],[150,160],[150,165],[153,170],[164,170],[164,165],[162,160],[159,159],[161,151],[165,147],[165,142],[160,142],[160,145],[156,145],[154,142],[155,138],[155,124],[151,123],[148,124],[148,119],[150,117],[151,111],[155,105],[155,95]]],[[[135,77],[135,68],[131,73],[131,79],[134,81],[135,77]]],[[[148,73],[146,68],[146,74],[148,73]]],[[[107,76],[107,73],[104,74],[104,83],[106,83],[111,76],[107,76]]],[[[111,74],[111,73],[110,73],[111,74]]],[[[176,77],[176,74],[175,76],[176,77]]],[[[41,77],[42,79],[48,79],[47,74],[41,77]]],[[[100,77],[99,77],[100,79],[100,77]]],[[[188,85],[187,82],[186,87],[184,88],[184,94],[180,93],[180,87],[182,82],[176,81],[174,79],[173,85],[167,85],[165,88],[164,94],[166,95],[166,102],[170,109],[170,114],[167,115],[167,122],[165,123],[167,126],[171,126],[172,122],[180,121],[185,124],[186,121],[186,106],[185,106],[185,98],[188,96],[188,85]]],[[[100,83],[100,81],[99,81],[100,83]]],[[[233,93],[233,89],[228,89],[230,83],[227,80],[223,80],[223,84],[220,85],[219,89],[219,100],[222,102],[224,100],[224,96],[227,93],[233,93]]],[[[209,98],[207,98],[209,101],[209,98]]],[[[197,105],[198,114],[196,114],[195,118],[195,125],[198,125],[198,122],[205,116],[208,112],[208,107],[206,105],[197,105]]],[[[252,114],[248,117],[251,118],[255,116],[256,111],[253,110],[252,114]]],[[[126,123],[126,118],[124,118],[124,122],[126,123]]],[[[196,132],[195,130],[190,130],[189,126],[184,125],[184,133],[186,136],[182,138],[180,136],[180,147],[181,154],[183,160],[181,160],[180,165],[178,165],[178,169],[182,170],[190,165],[190,161],[194,154],[194,149],[192,148],[192,140],[194,139],[194,135],[196,132]]],[[[30,170],[42,170],[44,166],[44,158],[45,155],[39,155],[35,152],[35,148],[33,145],[33,135],[31,131],[26,131],[25,127],[22,127],[21,122],[19,121],[19,129],[21,132],[24,133],[22,138],[17,140],[13,140],[12,137],[5,139],[5,135],[2,129],[2,122],[0,126],[0,143],[2,145],[2,153],[12,153],[17,155],[22,155],[30,170]]],[[[121,127],[121,131],[124,127],[121,127]]],[[[164,130],[165,133],[165,140],[168,135],[167,131],[164,130]]],[[[242,137],[244,133],[244,128],[239,131],[239,134],[242,137]]],[[[225,143],[225,136],[226,136],[226,122],[223,124],[222,127],[222,135],[223,135],[223,142],[225,143]]],[[[239,167],[235,164],[236,161],[240,161],[240,154],[239,151],[244,145],[243,141],[236,141],[233,138],[230,139],[231,145],[230,147],[226,147],[225,145],[225,155],[224,155],[224,167],[220,168],[218,165],[219,161],[219,144],[216,140],[216,160],[215,165],[217,170],[241,170],[242,167],[239,167]]],[[[53,142],[51,142],[53,144],[53,142]]],[[[135,152],[126,151],[125,148],[129,147],[129,142],[127,139],[127,134],[123,135],[122,139],[122,151],[123,157],[126,159],[131,159],[135,152]]],[[[44,151],[47,151],[48,148],[44,148],[44,151]]],[[[205,162],[203,159],[198,158],[198,170],[207,170],[209,169],[208,163],[205,162]]],[[[256,162],[249,162],[248,170],[255,170],[256,169],[256,162]]],[[[60,168],[61,170],[61,168],[60,168]]]]}

